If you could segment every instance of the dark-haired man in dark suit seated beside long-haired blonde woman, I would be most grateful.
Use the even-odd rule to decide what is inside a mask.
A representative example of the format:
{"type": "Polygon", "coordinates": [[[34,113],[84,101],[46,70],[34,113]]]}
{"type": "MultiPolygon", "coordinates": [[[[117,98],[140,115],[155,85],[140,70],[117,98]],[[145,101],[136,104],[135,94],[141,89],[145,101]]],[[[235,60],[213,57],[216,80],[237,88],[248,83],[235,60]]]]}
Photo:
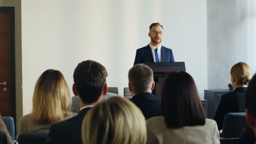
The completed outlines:
{"type": "Polygon", "coordinates": [[[51,125],[46,143],[82,143],[81,127],[88,110],[104,100],[107,93],[107,71],[100,63],[83,61],[74,70],[73,93],[81,106],[77,116],[51,125]]]}

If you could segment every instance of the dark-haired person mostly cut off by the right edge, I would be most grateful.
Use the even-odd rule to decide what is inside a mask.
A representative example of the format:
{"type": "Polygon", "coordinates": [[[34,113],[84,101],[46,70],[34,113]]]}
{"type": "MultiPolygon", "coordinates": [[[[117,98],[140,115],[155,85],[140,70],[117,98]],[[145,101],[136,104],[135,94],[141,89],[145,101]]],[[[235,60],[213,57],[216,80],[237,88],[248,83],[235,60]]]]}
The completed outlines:
{"type": "Polygon", "coordinates": [[[254,144],[256,143],[256,75],[246,90],[245,95],[246,120],[249,128],[243,132],[240,143],[254,144]]]}

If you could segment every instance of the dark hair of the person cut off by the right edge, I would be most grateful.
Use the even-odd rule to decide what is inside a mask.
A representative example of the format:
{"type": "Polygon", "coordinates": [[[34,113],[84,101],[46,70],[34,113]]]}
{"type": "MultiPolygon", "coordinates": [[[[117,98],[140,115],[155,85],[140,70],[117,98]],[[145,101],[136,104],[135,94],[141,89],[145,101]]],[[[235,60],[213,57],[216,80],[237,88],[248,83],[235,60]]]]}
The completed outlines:
{"type": "Polygon", "coordinates": [[[253,76],[251,82],[246,89],[246,103],[245,107],[250,111],[254,118],[256,118],[256,74],[253,76]]]}

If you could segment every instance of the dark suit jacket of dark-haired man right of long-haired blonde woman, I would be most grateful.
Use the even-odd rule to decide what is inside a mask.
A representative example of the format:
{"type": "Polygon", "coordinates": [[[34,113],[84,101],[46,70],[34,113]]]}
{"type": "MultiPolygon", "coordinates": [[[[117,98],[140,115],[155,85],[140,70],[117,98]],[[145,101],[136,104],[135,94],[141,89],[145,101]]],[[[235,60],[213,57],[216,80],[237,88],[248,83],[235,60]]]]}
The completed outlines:
{"type": "Polygon", "coordinates": [[[85,114],[91,107],[81,110],[77,116],[51,125],[46,143],[48,144],[80,144],[81,128],[85,114]]]}

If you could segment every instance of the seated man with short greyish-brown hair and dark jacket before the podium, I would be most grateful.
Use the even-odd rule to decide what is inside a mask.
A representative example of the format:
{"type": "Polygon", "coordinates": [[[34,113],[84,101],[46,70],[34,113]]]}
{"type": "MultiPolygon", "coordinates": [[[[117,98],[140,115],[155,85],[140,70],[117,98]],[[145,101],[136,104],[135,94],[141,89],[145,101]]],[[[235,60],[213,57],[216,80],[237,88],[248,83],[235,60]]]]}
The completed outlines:
{"type": "Polygon", "coordinates": [[[153,95],[153,70],[145,64],[136,64],[128,74],[131,101],[141,109],[146,119],[161,116],[161,99],[153,95]]]}

